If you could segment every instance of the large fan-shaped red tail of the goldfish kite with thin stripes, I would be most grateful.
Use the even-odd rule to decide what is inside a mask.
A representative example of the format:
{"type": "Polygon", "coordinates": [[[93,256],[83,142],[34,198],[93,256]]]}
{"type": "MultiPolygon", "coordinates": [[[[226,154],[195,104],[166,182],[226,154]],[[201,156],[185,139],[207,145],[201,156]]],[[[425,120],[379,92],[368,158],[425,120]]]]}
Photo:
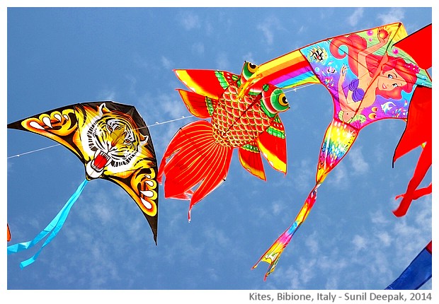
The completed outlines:
{"type": "Polygon", "coordinates": [[[173,136],[161,160],[158,179],[166,176],[166,198],[190,199],[190,209],[226,178],[233,148],[220,146],[212,136],[212,124],[191,122],[173,136]],[[196,185],[199,187],[192,192],[196,185]]]}

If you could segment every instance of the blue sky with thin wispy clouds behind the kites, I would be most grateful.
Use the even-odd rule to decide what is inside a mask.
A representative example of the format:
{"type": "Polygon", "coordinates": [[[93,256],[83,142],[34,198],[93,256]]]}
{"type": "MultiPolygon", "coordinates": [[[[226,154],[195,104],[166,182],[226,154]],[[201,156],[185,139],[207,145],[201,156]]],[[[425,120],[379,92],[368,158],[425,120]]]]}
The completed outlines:
{"type": "MultiPolygon", "coordinates": [[[[432,9],[8,8],[6,120],[92,100],[135,105],[152,125],[161,160],[178,128],[195,120],[154,125],[190,116],[173,69],[239,74],[244,60],[262,64],[326,37],[397,21],[413,33],[431,23],[432,9]]],[[[7,288],[385,288],[432,234],[431,195],[414,201],[403,218],[392,214],[419,151],[392,168],[404,123],[391,119],[360,132],[267,281],[268,264],[251,270],[314,186],[331,122],[332,101],[323,86],[287,98],[291,109],[280,115],[287,175],[265,162],[267,182],[258,180],[234,153],[226,182],[193,208],[190,223],[188,201],[164,199],[161,187],[158,245],[134,201],[113,183],[93,180],[37,262],[18,267],[35,250],[7,257],[7,288]]],[[[18,130],[6,135],[8,157],[55,144],[18,130]]],[[[83,165],[62,146],[8,158],[6,169],[11,243],[33,238],[84,180],[83,165]]],[[[429,182],[431,173],[422,185],[429,182]]]]}

